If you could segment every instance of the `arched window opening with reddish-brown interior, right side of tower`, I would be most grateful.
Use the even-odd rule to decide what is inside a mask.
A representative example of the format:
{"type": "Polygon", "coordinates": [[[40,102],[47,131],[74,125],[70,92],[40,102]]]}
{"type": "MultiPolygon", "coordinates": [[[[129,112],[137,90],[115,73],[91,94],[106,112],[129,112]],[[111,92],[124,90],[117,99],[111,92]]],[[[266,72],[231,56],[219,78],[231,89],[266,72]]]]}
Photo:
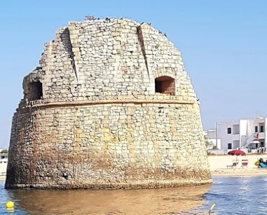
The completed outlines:
{"type": "Polygon", "coordinates": [[[175,96],[174,79],[167,76],[161,76],[155,79],[155,92],[175,96]]]}

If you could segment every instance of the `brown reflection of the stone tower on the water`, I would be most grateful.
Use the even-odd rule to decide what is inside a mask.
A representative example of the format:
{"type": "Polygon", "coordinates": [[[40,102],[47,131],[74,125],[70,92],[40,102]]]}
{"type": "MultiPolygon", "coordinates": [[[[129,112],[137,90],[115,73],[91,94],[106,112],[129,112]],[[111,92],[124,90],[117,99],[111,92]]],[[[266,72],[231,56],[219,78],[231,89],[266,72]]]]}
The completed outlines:
{"type": "Polygon", "coordinates": [[[149,190],[12,190],[27,214],[172,214],[203,204],[211,185],[149,190]]]}

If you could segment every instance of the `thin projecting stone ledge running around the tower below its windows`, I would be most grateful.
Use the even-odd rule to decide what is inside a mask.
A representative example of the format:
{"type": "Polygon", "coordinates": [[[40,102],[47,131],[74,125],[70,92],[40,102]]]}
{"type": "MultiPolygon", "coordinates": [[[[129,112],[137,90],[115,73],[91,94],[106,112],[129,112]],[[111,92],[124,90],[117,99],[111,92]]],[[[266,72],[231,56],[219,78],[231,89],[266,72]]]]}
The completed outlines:
{"type": "Polygon", "coordinates": [[[59,106],[81,106],[81,105],[102,105],[102,104],[184,104],[193,105],[197,103],[194,100],[86,100],[86,101],[72,101],[72,102],[53,102],[53,103],[39,103],[32,105],[32,107],[59,107],[59,106]]]}

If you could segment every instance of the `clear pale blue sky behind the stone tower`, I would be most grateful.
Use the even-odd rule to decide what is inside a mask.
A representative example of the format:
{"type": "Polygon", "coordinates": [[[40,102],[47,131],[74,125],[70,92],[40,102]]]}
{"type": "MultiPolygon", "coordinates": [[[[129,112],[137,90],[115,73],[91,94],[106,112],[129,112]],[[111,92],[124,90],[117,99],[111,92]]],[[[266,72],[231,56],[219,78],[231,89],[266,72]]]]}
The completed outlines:
{"type": "Polygon", "coordinates": [[[1,1],[0,148],[22,98],[22,79],[38,66],[55,30],[87,14],[132,18],[167,34],[200,98],[204,129],[216,121],[267,115],[266,0],[1,1]]]}

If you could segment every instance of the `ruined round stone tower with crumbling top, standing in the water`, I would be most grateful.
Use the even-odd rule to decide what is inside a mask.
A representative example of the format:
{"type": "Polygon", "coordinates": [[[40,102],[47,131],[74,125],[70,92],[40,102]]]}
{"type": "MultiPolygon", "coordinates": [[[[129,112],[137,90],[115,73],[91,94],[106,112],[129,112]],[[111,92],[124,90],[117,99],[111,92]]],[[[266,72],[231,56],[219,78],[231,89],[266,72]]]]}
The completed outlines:
{"type": "Polygon", "coordinates": [[[151,25],[69,22],[23,89],[6,188],[212,182],[191,80],[180,52],[151,25]]]}

